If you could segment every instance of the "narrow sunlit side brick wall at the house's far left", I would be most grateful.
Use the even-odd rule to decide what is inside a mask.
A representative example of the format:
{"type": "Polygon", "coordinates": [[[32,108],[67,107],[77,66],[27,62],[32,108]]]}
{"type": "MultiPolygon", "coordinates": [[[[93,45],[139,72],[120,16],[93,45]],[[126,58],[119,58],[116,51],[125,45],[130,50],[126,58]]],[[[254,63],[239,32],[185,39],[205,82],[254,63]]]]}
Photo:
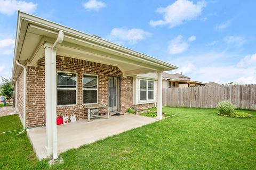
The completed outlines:
{"type": "Polygon", "coordinates": [[[23,71],[17,79],[17,87],[17,112],[23,118],[23,71]]]}

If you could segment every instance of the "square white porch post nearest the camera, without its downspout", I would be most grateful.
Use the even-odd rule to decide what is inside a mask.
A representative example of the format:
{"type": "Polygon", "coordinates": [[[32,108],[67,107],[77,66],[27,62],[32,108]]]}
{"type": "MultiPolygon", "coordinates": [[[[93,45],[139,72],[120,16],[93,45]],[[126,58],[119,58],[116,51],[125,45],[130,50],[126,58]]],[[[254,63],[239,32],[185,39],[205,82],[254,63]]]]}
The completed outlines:
{"type": "Polygon", "coordinates": [[[52,155],[52,115],[51,115],[51,55],[52,44],[44,44],[45,65],[45,119],[46,119],[46,155],[52,155]]]}

